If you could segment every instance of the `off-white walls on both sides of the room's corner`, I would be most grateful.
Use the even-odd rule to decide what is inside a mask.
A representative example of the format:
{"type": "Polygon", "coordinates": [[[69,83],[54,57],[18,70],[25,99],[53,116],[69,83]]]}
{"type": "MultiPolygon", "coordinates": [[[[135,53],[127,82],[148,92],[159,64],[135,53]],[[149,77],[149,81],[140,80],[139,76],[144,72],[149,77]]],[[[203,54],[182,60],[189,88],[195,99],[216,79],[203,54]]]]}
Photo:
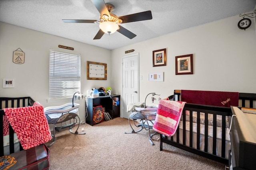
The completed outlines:
{"type": "MultiPolygon", "coordinates": [[[[151,92],[161,94],[161,98],[167,97],[174,89],[256,93],[255,18],[246,31],[238,29],[240,19],[234,16],[112,51],[0,23],[0,81],[15,80],[14,88],[3,88],[0,82],[0,96],[31,96],[44,107],[67,103],[46,101],[49,96],[49,49],[58,49],[58,45],[74,47],[74,52],[81,53],[81,91],[85,94],[87,89],[101,86],[110,86],[115,94],[122,94],[122,56],[132,54],[125,54],[129,49],[135,49],[133,53],[139,53],[140,57],[140,76],[143,77],[140,101],[151,92]],[[12,53],[18,48],[25,52],[25,63],[21,65],[12,62],[12,53]],[[166,66],[152,67],[152,51],[163,48],[166,48],[166,66]],[[175,75],[175,56],[191,53],[194,74],[175,75]],[[108,79],[87,80],[86,61],[107,63],[108,79]],[[148,73],[160,71],[164,72],[164,82],[148,81],[148,73]]],[[[84,100],[76,103],[81,105],[80,119],[84,120],[84,100]]]]}

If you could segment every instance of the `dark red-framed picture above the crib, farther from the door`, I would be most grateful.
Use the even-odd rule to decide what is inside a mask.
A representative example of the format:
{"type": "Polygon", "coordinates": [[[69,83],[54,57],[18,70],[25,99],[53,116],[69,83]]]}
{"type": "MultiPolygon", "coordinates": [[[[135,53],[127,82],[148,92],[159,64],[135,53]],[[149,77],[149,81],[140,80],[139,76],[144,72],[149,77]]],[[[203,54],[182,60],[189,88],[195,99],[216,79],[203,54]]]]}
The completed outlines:
{"type": "Polygon", "coordinates": [[[193,74],[193,54],[175,57],[176,75],[193,74]]]}

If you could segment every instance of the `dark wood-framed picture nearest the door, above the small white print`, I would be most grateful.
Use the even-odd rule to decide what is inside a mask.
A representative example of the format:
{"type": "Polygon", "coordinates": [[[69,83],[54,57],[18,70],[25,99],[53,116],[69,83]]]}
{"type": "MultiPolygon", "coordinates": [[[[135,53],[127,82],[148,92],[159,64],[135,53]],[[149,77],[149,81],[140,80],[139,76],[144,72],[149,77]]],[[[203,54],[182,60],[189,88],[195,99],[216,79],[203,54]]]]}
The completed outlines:
{"type": "Polygon", "coordinates": [[[166,65],[166,48],[153,51],[153,67],[166,65]]]}

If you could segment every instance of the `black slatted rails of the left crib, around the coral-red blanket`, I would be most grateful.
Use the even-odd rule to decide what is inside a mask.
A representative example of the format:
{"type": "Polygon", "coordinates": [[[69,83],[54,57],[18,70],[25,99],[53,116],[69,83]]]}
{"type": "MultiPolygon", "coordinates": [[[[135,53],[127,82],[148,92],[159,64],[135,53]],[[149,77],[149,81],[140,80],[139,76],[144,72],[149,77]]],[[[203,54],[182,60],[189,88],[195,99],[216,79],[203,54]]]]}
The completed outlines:
{"type": "MultiPolygon", "coordinates": [[[[18,108],[28,107],[34,104],[34,100],[31,97],[0,97],[0,127],[3,129],[3,117],[4,108],[18,108]]],[[[14,130],[9,124],[9,150],[10,153],[14,153],[14,130]]],[[[20,145],[20,150],[23,150],[20,145]]],[[[0,130],[0,156],[4,156],[4,134],[3,130],[0,130]]]]}

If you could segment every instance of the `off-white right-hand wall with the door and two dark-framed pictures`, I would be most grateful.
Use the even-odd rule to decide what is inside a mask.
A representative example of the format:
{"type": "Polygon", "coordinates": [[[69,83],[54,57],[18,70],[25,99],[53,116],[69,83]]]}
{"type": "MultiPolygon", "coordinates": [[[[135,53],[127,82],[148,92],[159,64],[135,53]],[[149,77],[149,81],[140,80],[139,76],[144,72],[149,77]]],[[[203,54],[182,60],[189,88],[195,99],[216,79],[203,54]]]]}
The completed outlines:
{"type": "MultiPolygon", "coordinates": [[[[140,101],[148,93],[167,97],[174,89],[256,93],[255,19],[246,31],[234,16],[132,44],[112,51],[112,82],[122,81],[124,51],[135,49],[140,61],[140,101]],[[152,67],[152,51],[166,48],[166,66],[152,67]],[[175,75],[175,56],[193,54],[194,74],[175,75]],[[119,71],[116,71],[119,70],[119,71]],[[149,82],[148,73],[164,72],[164,82],[149,82]]],[[[160,30],[159,30],[160,31],[160,30]]],[[[140,36],[140,35],[137,35],[140,36]]],[[[122,94],[122,84],[112,84],[122,94]]],[[[150,103],[150,102],[148,102],[150,103]]]]}

